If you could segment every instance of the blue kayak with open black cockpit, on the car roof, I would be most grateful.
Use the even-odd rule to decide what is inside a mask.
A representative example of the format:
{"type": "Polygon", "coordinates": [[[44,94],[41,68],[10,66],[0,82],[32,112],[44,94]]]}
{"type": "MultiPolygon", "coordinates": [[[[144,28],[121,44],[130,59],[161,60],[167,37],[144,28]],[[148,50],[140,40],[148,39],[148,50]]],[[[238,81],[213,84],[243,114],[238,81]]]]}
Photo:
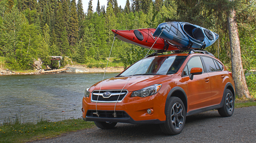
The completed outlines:
{"type": "Polygon", "coordinates": [[[170,44],[183,49],[204,49],[212,45],[219,38],[218,34],[206,28],[186,22],[161,23],[158,25],[153,36],[159,36],[170,44]]]}

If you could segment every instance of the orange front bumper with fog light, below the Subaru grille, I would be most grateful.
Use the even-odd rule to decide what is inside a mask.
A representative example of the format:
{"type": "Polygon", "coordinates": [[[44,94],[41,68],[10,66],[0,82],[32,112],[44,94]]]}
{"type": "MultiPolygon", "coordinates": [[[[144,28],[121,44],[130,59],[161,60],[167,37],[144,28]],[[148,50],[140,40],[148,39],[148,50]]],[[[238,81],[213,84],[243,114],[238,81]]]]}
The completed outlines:
{"type": "MultiPolygon", "coordinates": [[[[119,103],[97,103],[97,111],[99,116],[93,114],[96,112],[96,103],[91,102],[91,98],[83,98],[82,111],[85,121],[106,121],[106,122],[122,122],[122,123],[163,123],[166,116],[164,114],[164,103],[166,98],[160,93],[149,97],[130,97],[129,92],[119,103]],[[116,108],[115,108],[116,104],[116,108]],[[117,117],[113,116],[114,109],[117,117]],[[152,109],[151,114],[147,113],[147,109],[152,109]]],[[[90,95],[91,96],[91,95],[90,95]]]]}

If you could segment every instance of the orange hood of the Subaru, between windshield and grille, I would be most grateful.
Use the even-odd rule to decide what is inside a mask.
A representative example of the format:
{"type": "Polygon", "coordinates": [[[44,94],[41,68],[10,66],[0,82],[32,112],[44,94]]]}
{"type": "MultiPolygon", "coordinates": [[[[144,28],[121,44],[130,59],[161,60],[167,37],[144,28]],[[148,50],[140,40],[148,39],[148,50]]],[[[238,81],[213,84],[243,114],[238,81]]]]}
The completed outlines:
{"type": "Polygon", "coordinates": [[[127,89],[130,91],[136,91],[144,87],[148,87],[159,83],[160,81],[170,78],[172,75],[147,75],[147,76],[132,76],[132,77],[112,77],[103,82],[98,82],[90,87],[89,91],[99,90],[117,90],[127,89]],[[128,82],[128,83],[127,83],[128,82]],[[127,84],[126,84],[127,83],[127,84]],[[101,85],[102,84],[102,85],[101,85]],[[126,84],[126,85],[125,85],[126,84]]]}

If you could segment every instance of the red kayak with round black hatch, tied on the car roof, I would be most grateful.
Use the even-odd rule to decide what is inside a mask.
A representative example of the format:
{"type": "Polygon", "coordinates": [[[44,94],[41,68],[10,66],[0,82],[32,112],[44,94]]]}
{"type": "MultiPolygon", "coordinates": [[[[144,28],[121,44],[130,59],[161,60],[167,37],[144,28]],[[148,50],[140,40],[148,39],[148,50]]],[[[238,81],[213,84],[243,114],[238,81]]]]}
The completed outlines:
{"type": "MultiPolygon", "coordinates": [[[[150,49],[157,37],[153,36],[156,31],[154,28],[134,29],[134,30],[114,30],[112,32],[116,37],[124,42],[138,45],[143,48],[150,49]]],[[[175,51],[179,50],[176,46],[167,43],[166,40],[158,38],[156,43],[151,48],[152,50],[175,51]]]]}

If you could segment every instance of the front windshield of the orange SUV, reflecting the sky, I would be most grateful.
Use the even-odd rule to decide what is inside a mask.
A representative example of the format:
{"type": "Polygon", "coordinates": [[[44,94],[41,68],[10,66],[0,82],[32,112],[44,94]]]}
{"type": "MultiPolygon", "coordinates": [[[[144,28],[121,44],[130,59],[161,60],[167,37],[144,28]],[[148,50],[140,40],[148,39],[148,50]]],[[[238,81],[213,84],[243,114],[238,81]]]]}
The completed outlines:
{"type": "Polygon", "coordinates": [[[118,76],[165,75],[176,73],[186,56],[161,56],[145,58],[134,63],[118,76]],[[139,67],[138,67],[139,66],[139,67]]]}

